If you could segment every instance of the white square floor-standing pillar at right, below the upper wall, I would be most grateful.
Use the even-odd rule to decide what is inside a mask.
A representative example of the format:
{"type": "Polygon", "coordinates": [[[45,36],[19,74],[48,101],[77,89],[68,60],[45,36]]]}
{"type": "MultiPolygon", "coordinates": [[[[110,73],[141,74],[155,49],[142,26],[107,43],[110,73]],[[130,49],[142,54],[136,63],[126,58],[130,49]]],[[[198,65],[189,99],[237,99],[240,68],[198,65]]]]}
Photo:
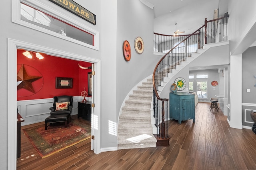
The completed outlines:
{"type": "Polygon", "coordinates": [[[230,127],[242,127],[242,54],[230,56],[230,127]]]}

